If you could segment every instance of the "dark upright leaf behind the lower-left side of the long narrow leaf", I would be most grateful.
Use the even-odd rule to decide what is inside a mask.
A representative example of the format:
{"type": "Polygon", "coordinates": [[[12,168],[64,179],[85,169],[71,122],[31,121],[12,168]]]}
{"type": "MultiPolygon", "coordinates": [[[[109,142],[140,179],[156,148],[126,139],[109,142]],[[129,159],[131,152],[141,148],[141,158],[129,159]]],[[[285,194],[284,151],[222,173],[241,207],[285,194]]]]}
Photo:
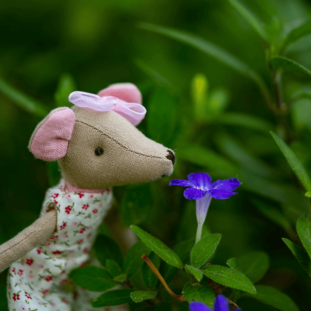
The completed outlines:
{"type": "Polygon", "coordinates": [[[133,276],[133,274],[138,271],[144,264],[141,256],[143,254],[149,256],[150,253],[151,250],[142,241],[136,242],[129,248],[125,255],[123,263],[124,272],[127,274],[128,277],[133,276]]]}

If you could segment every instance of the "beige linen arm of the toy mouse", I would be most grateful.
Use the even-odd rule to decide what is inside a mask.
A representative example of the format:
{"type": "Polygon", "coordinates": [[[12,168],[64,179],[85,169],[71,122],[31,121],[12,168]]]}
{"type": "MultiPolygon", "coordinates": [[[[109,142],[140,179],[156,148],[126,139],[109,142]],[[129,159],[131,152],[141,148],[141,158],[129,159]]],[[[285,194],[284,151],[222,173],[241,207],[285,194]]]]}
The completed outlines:
{"type": "Polygon", "coordinates": [[[0,245],[0,272],[51,237],[56,229],[56,221],[57,211],[52,209],[17,236],[0,245]]]}

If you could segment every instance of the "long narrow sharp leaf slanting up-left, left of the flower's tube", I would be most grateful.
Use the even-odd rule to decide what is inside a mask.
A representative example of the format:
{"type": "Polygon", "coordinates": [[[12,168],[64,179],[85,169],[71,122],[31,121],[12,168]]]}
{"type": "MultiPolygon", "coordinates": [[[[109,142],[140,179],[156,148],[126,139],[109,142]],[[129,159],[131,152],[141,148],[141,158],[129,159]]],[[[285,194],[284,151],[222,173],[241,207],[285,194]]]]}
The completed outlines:
{"type": "Polygon", "coordinates": [[[146,231],[140,229],[136,225],[131,225],[130,228],[138,235],[139,239],[149,247],[157,256],[162,258],[166,263],[170,264],[176,268],[182,268],[183,263],[178,255],[173,252],[168,246],[166,246],[163,242],[159,241],[151,234],[146,231]]]}

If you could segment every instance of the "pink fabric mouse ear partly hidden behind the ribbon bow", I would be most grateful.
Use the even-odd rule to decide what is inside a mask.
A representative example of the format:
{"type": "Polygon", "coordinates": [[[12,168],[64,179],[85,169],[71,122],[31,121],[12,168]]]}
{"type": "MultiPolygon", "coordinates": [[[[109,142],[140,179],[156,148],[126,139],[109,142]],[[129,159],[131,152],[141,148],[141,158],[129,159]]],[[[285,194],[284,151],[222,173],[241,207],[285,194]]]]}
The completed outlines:
{"type": "Polygon", "coordinates": [[[142,97],[137,86],[133,83],[112,84],[98,92],[99,96],[114,96],[127,103],[141,104],[142,97]]]}

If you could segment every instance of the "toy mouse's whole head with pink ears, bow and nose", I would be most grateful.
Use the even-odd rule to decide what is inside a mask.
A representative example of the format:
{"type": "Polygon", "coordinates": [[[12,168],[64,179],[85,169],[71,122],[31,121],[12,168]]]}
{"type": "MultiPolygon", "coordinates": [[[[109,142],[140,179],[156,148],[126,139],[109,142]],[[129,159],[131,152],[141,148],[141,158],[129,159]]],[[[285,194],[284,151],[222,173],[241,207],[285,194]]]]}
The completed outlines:
{"type": "Polygon", "coordinates": [[[136,86],[116,84],[99,95],[73,92],[69,101],[75,106],[52,110],[29,143],[36,158],[58,160],[69,184],[98,190],[173,173],[173,151],[135,127],[146,113],[136,86]]]}

